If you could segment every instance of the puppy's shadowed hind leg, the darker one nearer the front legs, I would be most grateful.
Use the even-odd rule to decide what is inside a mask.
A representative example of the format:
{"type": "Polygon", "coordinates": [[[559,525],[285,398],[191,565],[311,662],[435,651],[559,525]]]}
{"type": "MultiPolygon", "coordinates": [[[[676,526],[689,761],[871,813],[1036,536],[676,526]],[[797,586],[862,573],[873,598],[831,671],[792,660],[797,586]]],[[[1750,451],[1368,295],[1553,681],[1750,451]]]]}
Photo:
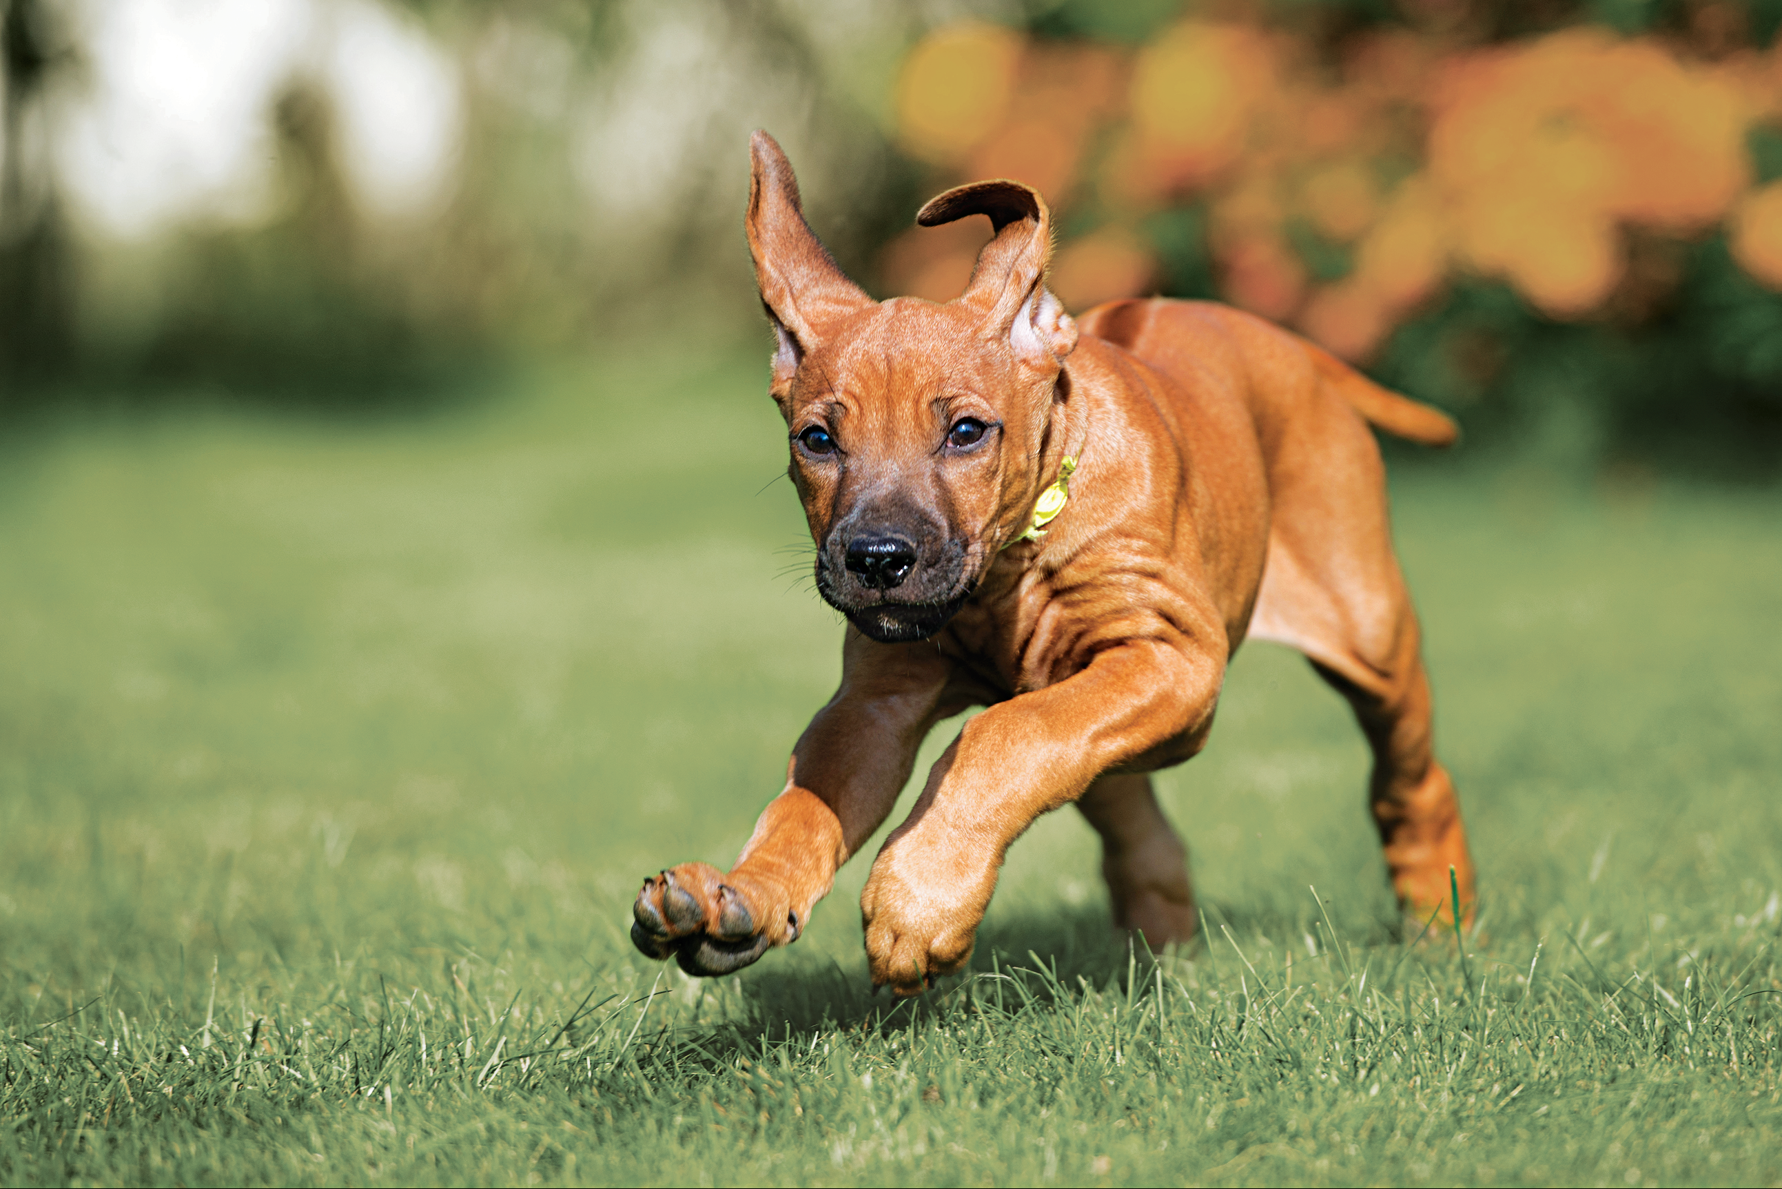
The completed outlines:
{"type": "Polygon", "coordinates": [[[1151,777],[1096,777],[1076,808],[1101,834],[1101,877],[1114,900],[1114,927],[1137,929],[1162,952],[1194,936],[1189,852],[1157,804],[1151,777]]]}

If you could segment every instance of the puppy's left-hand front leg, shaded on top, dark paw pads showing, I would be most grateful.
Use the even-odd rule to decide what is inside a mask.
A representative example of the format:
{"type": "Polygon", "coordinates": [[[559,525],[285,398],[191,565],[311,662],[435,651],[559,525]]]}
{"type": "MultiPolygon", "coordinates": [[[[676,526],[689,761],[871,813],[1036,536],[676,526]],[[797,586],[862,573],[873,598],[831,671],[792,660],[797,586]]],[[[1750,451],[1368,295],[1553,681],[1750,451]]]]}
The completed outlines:
{"type": "Polygon", "coordinates": [[[871,838],[944,717],[952,672],[934,645],[875,644],[848,629],[841,688],[805,727],[786,788],[729,873],[683,863],[643,881],[633,943],[693,975],[723,975],[798,939],[836,870],[871,838]]]}

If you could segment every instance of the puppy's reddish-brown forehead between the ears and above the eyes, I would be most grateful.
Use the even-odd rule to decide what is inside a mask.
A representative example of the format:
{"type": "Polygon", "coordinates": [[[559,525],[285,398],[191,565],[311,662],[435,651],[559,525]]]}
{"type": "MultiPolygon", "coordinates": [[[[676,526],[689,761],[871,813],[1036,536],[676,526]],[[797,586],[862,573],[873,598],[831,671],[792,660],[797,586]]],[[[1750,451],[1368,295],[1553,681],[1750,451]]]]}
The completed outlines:
{"type": "Polygon", "coordinates": [[[994,398],[1007,362],[984,337],[984,316],[959,305],[891,298],[834,328],[800,367],[800,403],[843,398],[927,403],[994,398]]]}

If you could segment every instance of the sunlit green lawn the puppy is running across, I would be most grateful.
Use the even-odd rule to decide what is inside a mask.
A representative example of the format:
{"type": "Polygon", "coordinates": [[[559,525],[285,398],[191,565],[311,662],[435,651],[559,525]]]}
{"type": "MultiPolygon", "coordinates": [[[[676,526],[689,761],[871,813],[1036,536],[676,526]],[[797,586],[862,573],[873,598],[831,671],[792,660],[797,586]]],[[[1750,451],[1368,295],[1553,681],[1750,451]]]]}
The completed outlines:
{"type": "Polygon", "coordinates": [[[663,367],[4,447],[0,1180],[1782,1178],[1773,492],[1401,467],[1463,954],[1394,939],[1360,738],[1256,645],[1160,777],[1205,943],[1110,938],[1062,813],[898,1005],[864,863],[736,979],[625,939],[838,670],[757,360],[663,367]]]}

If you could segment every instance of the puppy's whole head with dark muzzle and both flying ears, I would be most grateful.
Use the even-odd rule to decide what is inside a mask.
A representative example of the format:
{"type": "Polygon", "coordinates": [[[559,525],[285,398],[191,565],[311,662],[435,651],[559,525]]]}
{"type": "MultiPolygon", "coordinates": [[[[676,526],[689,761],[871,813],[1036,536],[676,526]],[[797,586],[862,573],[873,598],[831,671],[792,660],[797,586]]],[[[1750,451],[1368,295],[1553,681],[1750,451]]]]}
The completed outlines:
{"type": "Polygon", "coordinates": [[[1046,203],[1018,182],[948,191],[916,216],[989,216],[966,292],[873,301],[804,221],[779,144],[756,132],[748,250],[773,321],[772,392],[816,542],[816,586],[873,640],[923,640],[1019,535],[1076,324],[1044,287],[1046,203]]]}

